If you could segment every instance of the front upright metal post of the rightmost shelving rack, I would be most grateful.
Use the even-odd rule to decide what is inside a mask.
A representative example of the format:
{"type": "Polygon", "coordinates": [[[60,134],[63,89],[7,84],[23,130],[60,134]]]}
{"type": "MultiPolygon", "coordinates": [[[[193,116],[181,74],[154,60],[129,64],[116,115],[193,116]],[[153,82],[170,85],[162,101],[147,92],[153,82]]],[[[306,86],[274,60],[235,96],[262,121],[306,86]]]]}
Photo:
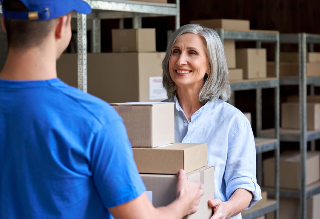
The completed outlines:
{"type": "Polygon", "coordinates": [[[306,34],[299,33],[299,110],[300,110],[300,218],[307,218],[306,158],[307,158],[307,42],[306,34]]]}

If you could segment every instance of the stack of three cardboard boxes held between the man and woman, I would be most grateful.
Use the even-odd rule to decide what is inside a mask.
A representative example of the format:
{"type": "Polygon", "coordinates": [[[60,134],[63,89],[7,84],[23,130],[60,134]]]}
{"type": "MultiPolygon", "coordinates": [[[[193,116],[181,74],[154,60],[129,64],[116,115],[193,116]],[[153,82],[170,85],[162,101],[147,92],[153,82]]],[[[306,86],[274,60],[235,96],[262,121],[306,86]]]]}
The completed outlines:
{"type": "Polygon", "coordinates": [[[214,167],[206,166],[205,143],[174,143],[174,103],[129,102],[111,104],[124,120],[133,157],[155,207],[175,200],[176,173],[184,169],[190,182],[204,189],[199,210],[188,219],[209,219],[207,202],[214,199],[214,167]]]}

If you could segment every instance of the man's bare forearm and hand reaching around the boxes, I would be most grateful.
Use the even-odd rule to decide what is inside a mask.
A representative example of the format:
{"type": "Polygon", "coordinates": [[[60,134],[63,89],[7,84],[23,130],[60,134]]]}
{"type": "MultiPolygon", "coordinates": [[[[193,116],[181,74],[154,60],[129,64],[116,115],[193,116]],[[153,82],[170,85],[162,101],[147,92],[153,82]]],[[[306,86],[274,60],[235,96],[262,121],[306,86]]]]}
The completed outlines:
{"type": "Polygon", "coordinates": [[[174,219],[197,211],[200,197],[204,191],[201,182],[188,182],[184,170],[178,172],[177,199],[166,207],[155,208],[144,192],[138,198],[122,205],[109,208],[116,219],[174,219]]]}

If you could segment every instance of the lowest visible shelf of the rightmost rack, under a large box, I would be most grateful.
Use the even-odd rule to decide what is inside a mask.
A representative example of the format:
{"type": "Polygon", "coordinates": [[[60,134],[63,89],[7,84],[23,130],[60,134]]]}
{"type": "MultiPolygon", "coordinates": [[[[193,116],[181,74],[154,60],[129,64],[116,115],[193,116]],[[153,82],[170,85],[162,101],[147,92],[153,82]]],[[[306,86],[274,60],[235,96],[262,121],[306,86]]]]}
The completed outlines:
{"type": "MultiPolygon", "coordinates": [[[[268,195],[274,196],[275,190],[269,187],[263,187],[264,191],[268,192],[268,195]]],[[[320,193],[320,181],[315,182],[311,185],[306,187],[306,196],[314,196],[320,193]]],[[[300,191],[299,190],[290,190],[290,189],[280,189],[280,196],[284,198],[300,198],[300,191]]]]}

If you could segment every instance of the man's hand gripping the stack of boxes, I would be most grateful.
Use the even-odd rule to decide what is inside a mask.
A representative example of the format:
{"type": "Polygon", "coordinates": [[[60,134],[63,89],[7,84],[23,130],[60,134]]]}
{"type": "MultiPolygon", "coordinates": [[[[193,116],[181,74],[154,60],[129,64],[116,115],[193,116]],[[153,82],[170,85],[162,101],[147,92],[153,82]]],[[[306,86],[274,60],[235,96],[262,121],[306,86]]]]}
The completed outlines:
{"type": "Polygon", "coordinates": [[[189,182],[184,170],[180,170],[177,176],[177,199],[184,200],[186,203],[186,215],[194,214],[198,210],[200,198],[204,194],[201,182],[189,182]]]}

